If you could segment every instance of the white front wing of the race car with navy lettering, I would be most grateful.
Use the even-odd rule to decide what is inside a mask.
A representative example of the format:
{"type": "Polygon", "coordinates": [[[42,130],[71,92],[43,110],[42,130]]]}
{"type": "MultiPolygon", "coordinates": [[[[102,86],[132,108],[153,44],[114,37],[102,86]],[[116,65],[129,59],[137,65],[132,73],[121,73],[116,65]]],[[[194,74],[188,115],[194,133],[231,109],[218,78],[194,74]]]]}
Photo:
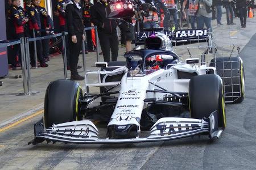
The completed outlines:
{"type": "Polygon", "coordinates": [[[99,137],[96,126],[89,120],[57,124],[48,129],[43,129],[43,120],[41,120],[34,125],[35,139],[28,144],[36,145],[44,140],[53,143],[154,142],[184,138],[201,133],[209,134],[210,138],[219,138],[222,129],[218,128],[217,120],[217,111],[210,114],[209,118],[203,118],[202,120],[178,117],[160,118],[150,129],[148,137],[128,139],[102,139],[99,137]]]}

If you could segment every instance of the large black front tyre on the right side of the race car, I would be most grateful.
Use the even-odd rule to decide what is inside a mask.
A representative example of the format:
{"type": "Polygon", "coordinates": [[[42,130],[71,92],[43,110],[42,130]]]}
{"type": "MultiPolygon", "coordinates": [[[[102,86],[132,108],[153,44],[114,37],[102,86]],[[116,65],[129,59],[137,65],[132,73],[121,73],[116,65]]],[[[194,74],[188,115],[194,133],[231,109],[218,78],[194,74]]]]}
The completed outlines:
{"type": "Polygon", "coordinates": [[[191,118],[208,118],[218,111],[219,128],[226,127],[225,100],[220,76],[215,74],[193,76],[189,81],[189,110],[191,118]]]}

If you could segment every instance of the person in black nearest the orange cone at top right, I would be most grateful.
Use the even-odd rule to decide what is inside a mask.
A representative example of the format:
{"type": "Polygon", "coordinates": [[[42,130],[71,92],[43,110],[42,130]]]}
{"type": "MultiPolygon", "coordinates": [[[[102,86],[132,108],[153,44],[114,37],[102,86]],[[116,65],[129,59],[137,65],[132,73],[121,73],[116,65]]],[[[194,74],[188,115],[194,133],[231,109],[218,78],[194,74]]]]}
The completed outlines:
{"type": "Polygon", "coordinates": [[[247,6],[246,0],[236,0],[236,6],[238,8],[238,16],[240,17],[241,27],[246,27],[246,16],[247,16],[247,6]]]}

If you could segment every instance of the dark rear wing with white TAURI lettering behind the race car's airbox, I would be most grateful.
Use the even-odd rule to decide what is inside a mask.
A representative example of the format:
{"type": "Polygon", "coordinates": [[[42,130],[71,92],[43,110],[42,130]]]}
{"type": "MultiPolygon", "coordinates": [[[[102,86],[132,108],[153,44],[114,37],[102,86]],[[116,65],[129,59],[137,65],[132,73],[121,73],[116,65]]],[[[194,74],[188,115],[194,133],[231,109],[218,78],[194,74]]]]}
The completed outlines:
{"type": "Polygon", "coordinates": [[[212,41],[212,33],[209,29],[179,29],[173,32],[159,28],[145,28],[142,32],[136,32],[135,45],[144,45],[147,37],[158,35],[158,33],[164,33],[175,46],[212,41]]]}

